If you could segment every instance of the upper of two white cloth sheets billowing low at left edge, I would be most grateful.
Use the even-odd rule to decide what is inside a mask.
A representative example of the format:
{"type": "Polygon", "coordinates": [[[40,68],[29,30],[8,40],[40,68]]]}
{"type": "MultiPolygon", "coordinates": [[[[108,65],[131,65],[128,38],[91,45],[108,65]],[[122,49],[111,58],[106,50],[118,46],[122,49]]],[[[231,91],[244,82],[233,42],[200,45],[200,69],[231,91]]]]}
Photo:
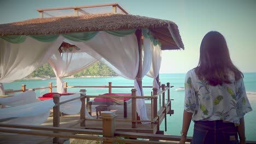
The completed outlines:
{"type": "Polygon", "coordinates": [[[26,105],[37,101],[40,100],[37,99],[36,92],[34,91],[26,91],[24,93],[14,95],[13,97],[0,98],[0,104],[7,106],[26,105]]]}

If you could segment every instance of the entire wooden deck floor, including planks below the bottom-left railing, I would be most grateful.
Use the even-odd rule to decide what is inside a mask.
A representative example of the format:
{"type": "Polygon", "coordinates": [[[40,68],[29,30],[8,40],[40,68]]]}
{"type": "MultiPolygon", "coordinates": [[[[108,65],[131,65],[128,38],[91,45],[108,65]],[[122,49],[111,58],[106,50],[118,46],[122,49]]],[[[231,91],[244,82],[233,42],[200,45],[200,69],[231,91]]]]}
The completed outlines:
{"type": "MultiPolygon", "coordinates": [[[[151,110],[150,104],[146,104],[147,114],[150,118],[151,110]]],[[[92,116],[96,119],[95,107],[97,105],[92,105],[92,116]]],[[[127,118],[123,116],[123,106],[122,105],[112,105],[110,106],[111,111],[115,111],[117,116],[117,121],[115,122],[116,131],[125,131],[125,132],[134,132],[134,133],[148,133],[155,134],[157,131],[156,124],[137,124],[137,128],[132,129],[131,122],[125,122],[125,120],[131,120],[131,104],[127,105],[127,118]],[[120,121],[120,122],[119,122],[120,121]]],[[[80,115],[71,115],[71,116],[61,116],[60,117],[60,127],[68,128],[85,128],[85,129],[102,129],[102,121],[99,118],[97,121],[88,121],[85,122],[85,127],[80,127],[80,115]]],[[[42,126],[53,126],[53,113],[50,114],[48,120],[42,124],[42,126]]],[[[47,136],[34,136],[34,135],[0,135],[0,143],[53,143],[53,137],[47,136]]]]}

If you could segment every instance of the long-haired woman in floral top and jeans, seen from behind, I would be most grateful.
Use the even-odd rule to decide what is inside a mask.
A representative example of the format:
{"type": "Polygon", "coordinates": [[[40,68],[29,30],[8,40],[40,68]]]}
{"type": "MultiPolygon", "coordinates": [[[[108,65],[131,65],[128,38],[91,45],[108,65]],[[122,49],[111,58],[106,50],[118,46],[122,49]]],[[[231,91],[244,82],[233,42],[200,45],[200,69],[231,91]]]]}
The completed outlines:
{"type": "Polygon", "coordinates": [[[187,139],[191,119],[195,122],[191,143],[245,143],[245,113],[252,111],[243,74],[232,63],[225,38],[209,32],[200,46],[196,68],[185,78],[185,101],[181,141],[187,139]]]}

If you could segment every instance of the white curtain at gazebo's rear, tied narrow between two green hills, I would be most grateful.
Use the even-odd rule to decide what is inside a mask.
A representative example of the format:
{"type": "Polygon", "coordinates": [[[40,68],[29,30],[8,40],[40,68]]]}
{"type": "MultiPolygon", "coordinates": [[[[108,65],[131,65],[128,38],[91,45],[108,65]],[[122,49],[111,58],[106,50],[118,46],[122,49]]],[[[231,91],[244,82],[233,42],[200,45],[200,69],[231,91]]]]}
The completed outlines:
{"type": "Polygon", "coordinates": [[[90,55],[91,53],[94,53],[91,49],[88,49],[90,47],[86,47],[85,49],[82,44],[75,41],[68,41],[68,43],[77,44],[80,50],[73,49],[71,52],[67,50],[66,52],[62,51],[62,53],[56,50],[54,55],[49,59],[49,64],[56,75],[58,93],[64,92],[63,76],[78,73],[79,71],[90,67],[90,65],[94,64],[99,59],[95,55],[93,55],[94,57],[90,55]]]}

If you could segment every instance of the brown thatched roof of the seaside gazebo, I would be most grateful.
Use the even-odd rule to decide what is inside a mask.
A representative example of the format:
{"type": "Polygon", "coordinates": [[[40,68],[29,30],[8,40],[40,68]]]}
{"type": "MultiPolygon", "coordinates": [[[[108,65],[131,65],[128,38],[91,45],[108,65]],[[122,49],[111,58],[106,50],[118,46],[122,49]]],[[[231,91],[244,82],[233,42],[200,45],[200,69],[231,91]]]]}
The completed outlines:
{"type": "Polygon", "coordinates": [[[0,25],[0,36],[6,35],[48,35],[72,32],[114,31],[121,29],[149,28],[159,39],[162,50],[178,49],[168,31],[170,25],[177,42],[184,49],[177,25],[172,21],[126,14],[97,14],[68,17],[38,18],[0,25]]]}

